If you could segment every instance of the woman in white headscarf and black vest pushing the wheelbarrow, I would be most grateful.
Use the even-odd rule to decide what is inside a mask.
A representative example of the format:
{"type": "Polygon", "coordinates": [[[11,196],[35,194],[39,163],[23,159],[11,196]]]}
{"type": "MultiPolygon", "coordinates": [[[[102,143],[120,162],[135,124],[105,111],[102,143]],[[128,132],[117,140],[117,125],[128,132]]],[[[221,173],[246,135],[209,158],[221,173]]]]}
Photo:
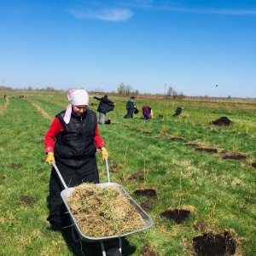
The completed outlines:
{"type": "MultiPolygon", "coordinates": [[[[55,163],[68,187],[86,182],[99,183],[96,148],[101,148],[102,160],[108,159],[108,151],[98,131],[96,113],[87,108],[89,96],[86,90],[70,90],[67,98],[70,102],[67,109],[55,116],[45,134],[45,161],[49,165],[55,163]]],[[[53,167],[49,178],[47,220],[57,227],[67,226],[68,220],[70,222],[61,199],[63,189],[53,167]]]]}

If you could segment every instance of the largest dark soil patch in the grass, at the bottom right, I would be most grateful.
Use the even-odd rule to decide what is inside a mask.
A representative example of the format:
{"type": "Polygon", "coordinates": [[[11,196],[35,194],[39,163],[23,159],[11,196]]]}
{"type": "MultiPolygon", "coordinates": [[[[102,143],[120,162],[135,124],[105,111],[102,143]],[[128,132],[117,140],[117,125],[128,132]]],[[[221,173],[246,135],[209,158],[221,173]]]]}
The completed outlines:
{"type": "Polygon", "coordinates": [[[217,235],[205,233],[195,236],[193,244],[198,256],[228,256],[236,253],[236,241],[228,231],[217,235]]]}

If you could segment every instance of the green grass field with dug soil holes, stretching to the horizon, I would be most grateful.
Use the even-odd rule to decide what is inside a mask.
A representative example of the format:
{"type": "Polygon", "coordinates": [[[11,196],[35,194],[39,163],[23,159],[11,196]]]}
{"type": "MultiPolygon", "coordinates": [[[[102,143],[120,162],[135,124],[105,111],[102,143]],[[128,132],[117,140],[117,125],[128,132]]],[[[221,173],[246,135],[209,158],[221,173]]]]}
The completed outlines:
{"type": "MultiPolygon", "coordinates": [[[[93,96],[90,108],[96,111],[93,96]]],[[[256,255],[255,103],[137,98],[140,113],[124,119],[127,97],[109,98],[116,103],[107,113],[112,124],[99,129],[109,152],[111,181],[140,205],[150,202],[146,211],[154,220],[150,229],[125,237],[123,255],[143,255],[146,244],[160,256],[195,255],[195,236],[224,230],[236,240],[234,255],[256,255]],[[153,108],[153,119],[142,119],[143,105],[153,108]],[[173,117],[177,107],[183,112],[173,117]],[[234,125],[209,125],[223,116],[234,125]],[[243,159],[224,159],[224,154],[243,159]],[[143,174],[131,178],[137,173],[143,174]],[[136,189],[155,189],[157,196],[148,201],[135,195],[136,189]],[[161,217],[168,209],[189,210],[189,218],[177,224],[161,217]]],[[[66,93],[0,91],[1,256],[102,255],[98,243],[76,243],[46,221],[50,166],[44,134],[67,104],[66,93]]],[[[97,157],[104,183],[106,166],[100,153],[97,157]]]]}

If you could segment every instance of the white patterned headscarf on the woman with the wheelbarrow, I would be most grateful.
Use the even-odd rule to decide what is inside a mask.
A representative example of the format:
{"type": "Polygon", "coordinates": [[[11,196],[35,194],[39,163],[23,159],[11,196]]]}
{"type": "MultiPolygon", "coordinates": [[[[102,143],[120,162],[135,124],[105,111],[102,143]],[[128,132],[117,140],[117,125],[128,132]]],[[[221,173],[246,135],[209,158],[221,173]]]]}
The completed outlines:
{"type": "Polygon", "coordinates": [[[89,95],[86,90],[69,90],[67,92],[67,99],[70,104],[66,108],[66,113],[64,116],[64,121],[66,124],[69,123],[71,113],[72,113],[72,106],[88,106],[89,105],[89,95]]]}

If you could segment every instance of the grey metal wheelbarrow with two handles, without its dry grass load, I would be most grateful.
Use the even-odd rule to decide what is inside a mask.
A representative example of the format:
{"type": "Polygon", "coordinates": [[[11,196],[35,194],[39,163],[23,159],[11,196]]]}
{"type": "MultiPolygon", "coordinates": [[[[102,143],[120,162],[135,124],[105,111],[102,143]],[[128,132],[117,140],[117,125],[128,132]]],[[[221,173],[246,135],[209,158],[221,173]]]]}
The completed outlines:
{"type": "Polygon", "coordinates": [[[125,191],[125,189],[122,188],[121,185],[119,185],[119,183],[111,183],[110,182],[110,177],[109,177],[109,170],[108,170],[108,159],[105,160],[106,163],[106,169],[107,169],[107,177],[108,177],[108,183],[99,183],[98,185],[100,185],[102,188],[107,188],[108,186],[112,186],[115,187],[117,189],[120,189],[125,197],[130,201],[131,205],[133,207],[135,207],[135,209],[137,210],[137,212],[139,212],[142,216],[142,218],[145,221],[145,226],[143,227],[143,229],[139,229],[139,230],[134,230],[132,232],[127,232],[125,234],[121,234],[119,236],[105,236],[105,237],[90,237],[90,236],[86,236],[86,234],[83,234],[82,231],[79,228],[79,225],[77,224],[76,219],[73,217],[73,213],[70,210],[70,207],[67,204],[67,198],[72,194],[73,190],[75,188],[68,188],[67,184],[65,183],[63,177],[61,176],[61,172],[59,171],[58,167],[55,165],[55,163],[52,162],[52,165],[55,167],[55,171],[58,174],[61,183],[64,186],[64,189],[61,191],[61,198],[65,204],[65,206],[67,207],[67,212],[70,215],[71,221],[72,221],[72,237],[73,240],[75,242],[79,242],[79,241],[86,241],[86,242],[99,242],[102,248],[102,256],[107,256],[106,251],[105,251],[105,247],[104,247],[104,241],[109,241],[109,240],[113,240],[113,239],[118,239],[119,241],[119,247],[115,248],[115,250],[113,250],[113,254],[114,256],[119,256],[122,255],[122,238],[143,230],[148,230],[152,225],[153,225],[153,220],[152,218],[150,218],[147,214],[147,212],[145,212],[143,210],[142,207],[140,207],[136,201],[134,201],[131,196],[125,191]]]}

